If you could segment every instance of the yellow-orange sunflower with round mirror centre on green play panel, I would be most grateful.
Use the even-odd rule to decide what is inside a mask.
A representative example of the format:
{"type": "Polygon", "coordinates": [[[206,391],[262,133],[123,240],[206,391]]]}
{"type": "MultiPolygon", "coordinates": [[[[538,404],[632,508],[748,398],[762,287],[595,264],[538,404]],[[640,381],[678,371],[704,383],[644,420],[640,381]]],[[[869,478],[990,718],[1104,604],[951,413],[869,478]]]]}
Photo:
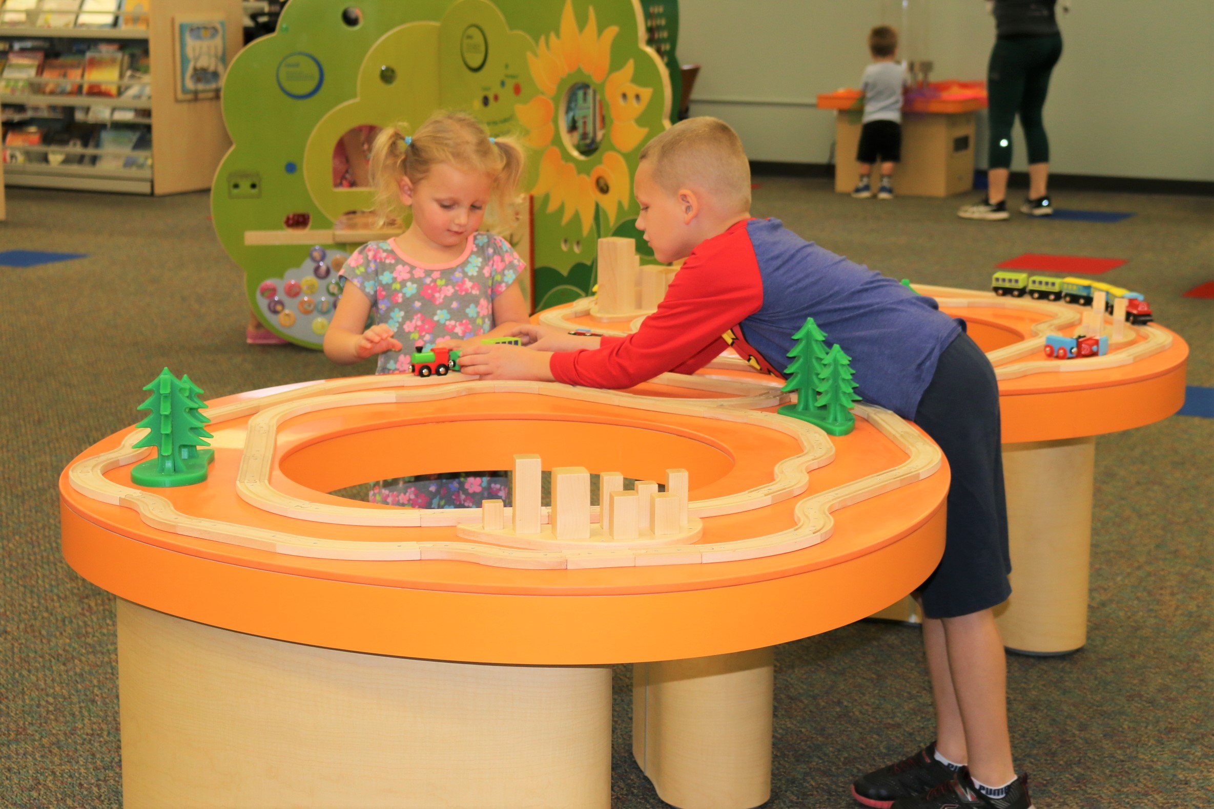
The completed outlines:
{"type": "Polygon", "coordinates": [[[532,193],[548,194],[549,213],[563,206],[562,224],[574,213],[580,216],[583,234],[594,226],[596,204],[612,224],[628,207],[630,178],[622,153],[632,152],[648,132],[636,118],[653,90],[632,84],[632,59],[608,75],[618,33],[618,25],[609,25],[600,34],[592,7],[578,30],[573,5],[566,0],[560,33],[540,36],[537,52],[527,55],[541,95],[515,107],[528,131],[526,143],[544,149],[532,193]],[[579,110],[575,116],[573,108],[579,110]]]}

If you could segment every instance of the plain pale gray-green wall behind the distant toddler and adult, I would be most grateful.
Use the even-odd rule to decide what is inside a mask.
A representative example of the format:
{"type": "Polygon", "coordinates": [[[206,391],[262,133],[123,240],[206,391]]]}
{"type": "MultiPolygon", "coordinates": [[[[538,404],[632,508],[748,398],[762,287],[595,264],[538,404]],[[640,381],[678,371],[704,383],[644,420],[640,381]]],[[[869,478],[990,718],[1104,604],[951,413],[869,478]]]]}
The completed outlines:
{"type": "MultiPolygon", "coordinates": [[[[1214,1],[1070,5],[1045,104],[1053,171],[1214,181],[1214,1]]],[[[906,17],[898,0],[681,0],[679,58],[703,65],[692,114],[727,120],[755,160],[827,163],[834,118],[813,99],[858,85],[883,22],[935,78],[986,78],[994,19],[981,0],[908,0],[906,17]]],[[[1019,126],[1014,137],[1022,170],[1019,126]]]]}

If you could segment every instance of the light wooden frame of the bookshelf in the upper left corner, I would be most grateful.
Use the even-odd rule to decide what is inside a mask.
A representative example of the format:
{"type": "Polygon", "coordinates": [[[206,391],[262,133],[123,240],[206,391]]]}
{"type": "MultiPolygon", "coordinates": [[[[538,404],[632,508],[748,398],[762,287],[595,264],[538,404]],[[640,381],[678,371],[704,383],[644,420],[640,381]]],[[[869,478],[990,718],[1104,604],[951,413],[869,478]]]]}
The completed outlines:
{"type": "MultiPolygon", "coordinates": [[[[244,23],[240,0],[157,0],[149,16],[148,28],[0,28],[0,39],[4,40],[147,41],[152,63],[151,99],[44,93],[0,96],[0,103],[4,104],[151,109],[151,124],[146,120],[113,121],[114,124],[152,127],[151,169],[97,170],[92,166],[63,164],[10,164],[2,175],[5,184],[155,195],[205,190],[211,187],[215,170],[232,142],[223,126],[223,113],[219,97],[198,101],[176,99],[174,93],[176,67],[172,29],[177,17],[223,19],[227,29],[227,62],[231,64],[242,47],[244,23]]],[[[64,50],[69,50],[67,41],[61,45],[64,50]]],[[[38,84],[40,79],[30,81],[38,84]]],[[[53,81],[68,82],[63,79],[53,81]]],[[[72,80],[72,82],[104,84],[90,82],[85,79],[72,80]]],[[[53,150],[69,152],[70,149],[55,148],[53,150]]]]}

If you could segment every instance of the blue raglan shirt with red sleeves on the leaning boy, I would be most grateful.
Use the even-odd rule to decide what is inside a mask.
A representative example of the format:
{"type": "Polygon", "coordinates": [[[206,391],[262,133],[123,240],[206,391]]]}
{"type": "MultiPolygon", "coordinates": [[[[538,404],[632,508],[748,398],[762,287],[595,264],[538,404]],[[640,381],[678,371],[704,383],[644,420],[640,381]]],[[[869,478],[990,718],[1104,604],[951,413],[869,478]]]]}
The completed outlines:
{"type": "Polygon", "coordinates": [[[778,220],[747,220],[700,243],[658,311],[626,337],[552,354],[558,382],[629,388],[692,374],[726,347],[781,375],[793,335],[812,317],[851,357],[856,393],[913,418],[941,352],[961,331],[936,301],[806,241],[778,220]]]}

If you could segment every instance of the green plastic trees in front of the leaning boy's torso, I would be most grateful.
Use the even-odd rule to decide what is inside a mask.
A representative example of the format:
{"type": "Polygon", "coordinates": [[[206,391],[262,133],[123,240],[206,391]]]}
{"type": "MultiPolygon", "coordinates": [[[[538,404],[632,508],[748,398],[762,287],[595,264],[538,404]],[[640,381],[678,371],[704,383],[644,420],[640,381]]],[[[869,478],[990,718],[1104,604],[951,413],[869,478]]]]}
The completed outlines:
{"type": "Polygon", "coordinates": [[[792,364],[784,369],[788,381],[783,391],[796,392],[796,403],[784,405],[779,412],[807,421],[832,435],[846,435],[856,427],[851,408],[860,401],[851,381],[851,358],[839,346],[826,347],[827,335],[806,318],[805,325],[793,335],[796,343],[788,355],[792,364]]]}

